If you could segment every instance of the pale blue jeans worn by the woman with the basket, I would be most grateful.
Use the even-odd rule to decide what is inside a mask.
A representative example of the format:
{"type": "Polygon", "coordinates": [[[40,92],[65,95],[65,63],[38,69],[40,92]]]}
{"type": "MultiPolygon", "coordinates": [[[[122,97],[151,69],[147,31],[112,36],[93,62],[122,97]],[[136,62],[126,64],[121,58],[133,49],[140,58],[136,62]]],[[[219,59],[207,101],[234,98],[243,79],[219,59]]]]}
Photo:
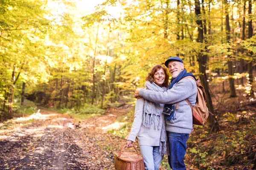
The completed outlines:
{"type": "Polygon", "coordinates": [[[140,145],[140,151],[144,157],[145,170],[159,170],[163,159],[159,148],[159,146],[140,145]]]}

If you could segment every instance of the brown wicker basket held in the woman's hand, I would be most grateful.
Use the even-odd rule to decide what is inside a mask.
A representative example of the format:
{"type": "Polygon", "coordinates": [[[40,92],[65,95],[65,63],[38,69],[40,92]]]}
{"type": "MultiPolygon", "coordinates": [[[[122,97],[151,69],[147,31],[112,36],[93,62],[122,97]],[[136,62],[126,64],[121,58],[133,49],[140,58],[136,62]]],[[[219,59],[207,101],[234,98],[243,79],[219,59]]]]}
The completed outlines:
{"type": "Polygon", "coordinates": [[[124,147],[115,153],[114,163],[116,170],[145,170],[143,156],[138,153],[136,147],[134,147],[136,152],[122,151],[123,149],[124,147]]]}

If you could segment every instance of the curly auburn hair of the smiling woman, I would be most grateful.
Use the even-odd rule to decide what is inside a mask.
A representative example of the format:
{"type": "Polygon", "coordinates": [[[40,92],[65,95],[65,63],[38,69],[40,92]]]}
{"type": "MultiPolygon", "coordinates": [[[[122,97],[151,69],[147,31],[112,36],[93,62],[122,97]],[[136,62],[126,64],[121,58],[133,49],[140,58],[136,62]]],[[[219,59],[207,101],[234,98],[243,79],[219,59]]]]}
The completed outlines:
{"type": "Polygon", "coordinates": [[[151,70],[149,71],[147,77],[146,77],[146,81],[149,82],[154,82],[154,74],[159,70],[163,68],[164,74],[165,74],[165,79],[163,82],[163,87],[168,87],[168,82],[169,82],[169,71],[167,70],[167,68],[163,67],[163,65],[154,65],[151,70]]]}

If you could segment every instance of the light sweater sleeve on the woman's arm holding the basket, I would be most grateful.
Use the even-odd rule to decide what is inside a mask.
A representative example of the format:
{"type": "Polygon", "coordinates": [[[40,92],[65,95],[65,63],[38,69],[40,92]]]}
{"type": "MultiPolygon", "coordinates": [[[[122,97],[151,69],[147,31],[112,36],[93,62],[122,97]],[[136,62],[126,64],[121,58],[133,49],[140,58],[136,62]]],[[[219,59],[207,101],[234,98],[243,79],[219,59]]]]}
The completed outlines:
{"type": "Polygon", "coordinates": [[[135,104],[134,122],[132,123],[131,132],[127,140],[135,142],[136,136],[140,132],[140,127],[143,121],[143,107],[144,99],[137,99],[135,104]]]}

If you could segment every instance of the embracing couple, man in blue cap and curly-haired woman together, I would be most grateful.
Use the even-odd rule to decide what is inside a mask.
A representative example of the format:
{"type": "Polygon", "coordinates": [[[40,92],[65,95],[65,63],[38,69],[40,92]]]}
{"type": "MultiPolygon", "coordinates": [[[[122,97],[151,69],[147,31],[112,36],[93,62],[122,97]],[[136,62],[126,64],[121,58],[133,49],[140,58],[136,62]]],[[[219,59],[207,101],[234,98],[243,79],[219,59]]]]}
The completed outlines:
{"type": "Polygon", "coordinates": [[[125,147],[132,147],[137,136],[146,170],[159,170],[163,155],[168,155],[172,170],[186,170],[186,141],[193,125],[192,111],[185,99],[195,105],[197,85],[195,76],[186,71],[179,57],[170,57],[165,66],[172,76],[169,86],[167,69],[154,65],[146,77],[145,88],[135,91],[138,99],[134,122],[125,147]],[[170,114],[164,113],[168,112],[166,108],[170,114]]]}

